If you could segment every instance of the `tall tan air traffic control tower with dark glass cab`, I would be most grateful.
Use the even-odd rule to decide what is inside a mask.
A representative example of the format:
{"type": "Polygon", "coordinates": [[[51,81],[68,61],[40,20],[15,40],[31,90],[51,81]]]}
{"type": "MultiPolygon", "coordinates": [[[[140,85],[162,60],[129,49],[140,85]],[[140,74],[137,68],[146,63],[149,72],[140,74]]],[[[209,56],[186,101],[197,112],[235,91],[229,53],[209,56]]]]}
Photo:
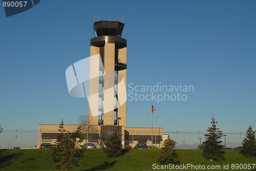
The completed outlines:
{"type": "Polygon", "coordinates": [[[98,60],[90,59],[89,118],[95,125],[126,126],[127,48],[126,40],[121,38],[123,27],[123,23],[103,20],[93,26],[90,56],[100,54],[103,64],[102,68],[98,60]],[[99,79],[91,79],[95,77],[99,79]]]}

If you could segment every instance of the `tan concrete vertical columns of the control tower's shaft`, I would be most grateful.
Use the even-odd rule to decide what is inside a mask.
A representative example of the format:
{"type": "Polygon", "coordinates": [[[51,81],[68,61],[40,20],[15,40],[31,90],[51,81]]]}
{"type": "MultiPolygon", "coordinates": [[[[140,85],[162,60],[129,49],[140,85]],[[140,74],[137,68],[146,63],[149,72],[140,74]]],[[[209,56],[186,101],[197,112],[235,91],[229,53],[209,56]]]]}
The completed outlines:
{"type": "MultiPolygon", "coordinates": [[[[104,125],[113,125],[114,124],[114,73],[115,73],[115,44],[106,43],[104,47],[98,48],[91,46],[90,55],[99,54],[102,57],[104,65],[104,86],[103,86],[103,124],[104,125]]],[[[118,58],[121,62],[126,63],[127,61],[127,49],[119,49],[118,58]]],[[[118,86],[118,117],[121,117],[119,120],[119,125],[126,126],[126,70],[118,71],[122,75],[120,85],[118,86]]],[[[89,117],[92,117],[92,113],[98,112],[99,105],[99,96],[98,92],[99,86],[98,80],[92,80],[99,76],[99,61],[90,60],[90,98],[89,98],[89,117]],[[94,85],[94,86],[92,86],[94,85]]],[[[93,117],[93,124],[98,124],[98,117],[93,117]]]]}

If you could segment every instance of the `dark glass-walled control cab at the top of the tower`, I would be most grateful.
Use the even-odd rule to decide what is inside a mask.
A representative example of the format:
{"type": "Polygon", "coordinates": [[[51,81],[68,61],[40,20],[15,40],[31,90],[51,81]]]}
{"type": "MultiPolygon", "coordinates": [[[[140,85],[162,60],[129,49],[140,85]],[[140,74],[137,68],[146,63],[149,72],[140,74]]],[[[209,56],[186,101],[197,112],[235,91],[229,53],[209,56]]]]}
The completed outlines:
{"type": "Polygon", "coordinates": [[[121,37],[124,24],[120,22],[113,21],[99,21],[95,22],[93,25],[93,30],[98,36],[117,36],[121,37]]]}

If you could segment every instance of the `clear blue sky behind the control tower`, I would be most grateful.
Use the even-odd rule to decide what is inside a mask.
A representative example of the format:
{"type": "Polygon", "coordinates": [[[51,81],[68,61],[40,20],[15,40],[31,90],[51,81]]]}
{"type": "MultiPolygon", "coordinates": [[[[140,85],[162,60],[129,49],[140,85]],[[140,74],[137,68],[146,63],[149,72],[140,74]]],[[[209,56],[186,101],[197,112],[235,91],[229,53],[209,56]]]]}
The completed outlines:
{"type": "Polygon", "coordinates": [[[128,101],[127,126],[150,127],[153,102],[154,126],[165,132],[206,131],[212,115],[224,132],[255,130],[256,1],[78,0],[41,1],[10,17],[0,7],[4,130],[88,114],[87,99],[69,95],[65,71],[89,56],[101,9],[104,20],[124,13],[128,84],[194,86],[186,101],[128,101]]]}

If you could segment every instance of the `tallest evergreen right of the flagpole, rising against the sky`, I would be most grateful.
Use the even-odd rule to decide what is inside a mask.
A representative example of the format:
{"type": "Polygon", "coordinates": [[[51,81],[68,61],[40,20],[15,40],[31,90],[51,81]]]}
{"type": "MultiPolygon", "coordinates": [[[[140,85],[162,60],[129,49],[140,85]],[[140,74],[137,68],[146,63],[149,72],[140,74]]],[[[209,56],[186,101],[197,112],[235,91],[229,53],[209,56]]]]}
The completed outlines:
{"type": "Polygon", "coordinates": [[[208,134],[205,134],[205,142],[203,148],[203,156],[206,159],[211,160],[225,160],[223,156],[225,151],[223,150],[224,145],[221,145],[222,141],[220,138],[223,136],[222,131],[216,127],[218,122],[215,121],[214,116],[211,118],[211,127],[208,127],[208,134]]]}

